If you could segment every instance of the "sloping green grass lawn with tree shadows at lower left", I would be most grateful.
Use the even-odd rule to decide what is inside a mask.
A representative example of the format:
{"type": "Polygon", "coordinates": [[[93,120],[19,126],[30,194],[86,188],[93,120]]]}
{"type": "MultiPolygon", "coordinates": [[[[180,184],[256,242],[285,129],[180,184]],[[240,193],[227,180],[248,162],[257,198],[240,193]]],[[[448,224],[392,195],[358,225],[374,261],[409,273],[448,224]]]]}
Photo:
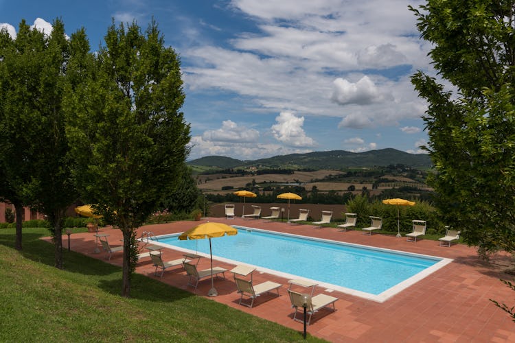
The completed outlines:
{"type": "MultiPolygon", "coordinates": [[[[301,331],[245,314],[76,252],[54,265],[44,228],[0,229],[0,342],[296,342],[301,331]]],[[[65,246],[66,248],[66,246],[65,246]]],[[[308,329],[309,331],[309,329],[308,329]]],[[[310,342],[323,342],[308,334],[310,342]]]]}

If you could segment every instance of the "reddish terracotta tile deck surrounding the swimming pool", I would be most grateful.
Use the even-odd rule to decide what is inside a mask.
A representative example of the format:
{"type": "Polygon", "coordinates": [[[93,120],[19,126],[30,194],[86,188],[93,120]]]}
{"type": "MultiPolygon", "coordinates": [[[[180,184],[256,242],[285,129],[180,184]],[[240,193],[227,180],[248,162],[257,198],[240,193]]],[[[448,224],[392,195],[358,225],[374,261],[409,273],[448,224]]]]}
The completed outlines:
{"type": "MultiPolygon", "coordinates": [[[[515,342],[515,322],[510,316],[496,307],[489,299],[498,300],[508,306],[515,305],[514,291],[499,279],[514,281],[514,277],[502,272],[507,258],[496,259],[494,263],[485,263],[477,257],[474,248],[455,244],[450,248],[439,246],[437,241],[422,239],[416,243],[388,235],[363,235],[361,231],[347,230],[343,233],[336,228],[314,228],[312,225],[290,225],[286,222],[267,222],[265,220],[242,220],[235,218],[205,218],[211,222],[224,222],[229,225],[263,228],[284,233],[294,233],[363,244],[380,248],[389,248],[424,255],[447,257],[453,262],[433,274],[404,289],[384,303],[358,298],[341,292],[332,292],[336,301],[336,312],[321,310],[314,314],[308,333],[330,342],[515,342]]],[[[173,222],[169,224],[150,225],[139,228],[139,235],[146,230],[155,235],[183,232],[201,222],[173,222]]],[[[100,233],[108,233],[108,240],[117,245],[122,237],[120,230],[101,228],[100,233]]],[[[139,236],[138,235],[138,236],[139,236]]],[[[67,236],[63,235],[63,247],[67,247],[67,236]]],[[[71,250],[97,259],[106,258],[106,253],[94,253],[95,237],[93,233],[76,233],[71,235],[71,250]]],[[[216,252],[215,252],[216,254],[216,252]]],[[[182,252],[164,249],[163,260],[178,259],[182,252]]],[[[115,253],[110,263],[122,265],[122,254],[115,253]]],[[[215,261],[214,265],[231,269],[234,265],[215,261]]],[[[209,259],[201,259],[199,270],[209,268],[209,259]]],[[[288,280],[279,276],[254,272],[255,284],[263,281],[275,281],[283,286],[280,296],[268,295],[258,297],[254,307],[249,309],[238,305],[240,299],[232,273],[226,273],[227,279],[216,279],[218,296],[209,298],[207,292],[211,287],[209,279],[198,283],[196,291],[187,286],[187,276],[182,268],[172,268],[164,272],[163,277],[154,276],[155,268],[150,259],[142,259],[136,272],[150,278],[158,279],[174,287],[185,289],[198,296],[218,301],[230,307],[245,311],[253,316],[271,320],[285,327],[302,331],[303,324],[293,320],[293,309],[286,289],[288,280]]],[[[325,293],[318,287],[317,293],[325,293]]]]}

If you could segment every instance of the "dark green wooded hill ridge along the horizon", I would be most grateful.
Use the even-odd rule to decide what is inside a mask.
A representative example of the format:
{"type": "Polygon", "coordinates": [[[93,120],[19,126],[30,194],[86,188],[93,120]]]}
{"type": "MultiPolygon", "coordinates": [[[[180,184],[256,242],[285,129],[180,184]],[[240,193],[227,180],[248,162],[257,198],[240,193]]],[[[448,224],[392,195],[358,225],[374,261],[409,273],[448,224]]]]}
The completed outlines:
{"type": "Polygon", "coordinates": [[[332,150],[327,152],[308,152],[288,154],[242,161],[225,156],[205,156],[187,162],[189,165],[229,169],[237,167],[282,168],[282,169],[342,169],[348,167],[382,167],[402,164],[417,169],[426,169],[433,163],[427,154],[409,154],[388,148],[367,152],[347,152],[332,150]]]}

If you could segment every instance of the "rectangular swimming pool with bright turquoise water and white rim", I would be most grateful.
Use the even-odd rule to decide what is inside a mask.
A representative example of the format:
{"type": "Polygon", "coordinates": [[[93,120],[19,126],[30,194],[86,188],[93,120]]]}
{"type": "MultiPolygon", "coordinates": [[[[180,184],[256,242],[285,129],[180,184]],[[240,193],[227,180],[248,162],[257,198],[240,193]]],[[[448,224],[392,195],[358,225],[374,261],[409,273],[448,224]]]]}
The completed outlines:
{"type": "MultiPolygon", "coordinates": [[[[347,244],[257,228],[211,239],[220,261],[255,265],[288,279],[317,281],[322,287],[376,300],[387,300],[405,287],[442,268],[450,259],[347,244]]],[[[209,256],[209,240],[179,241],[179,234],[158,238],[176,250],[209,256]]]]}

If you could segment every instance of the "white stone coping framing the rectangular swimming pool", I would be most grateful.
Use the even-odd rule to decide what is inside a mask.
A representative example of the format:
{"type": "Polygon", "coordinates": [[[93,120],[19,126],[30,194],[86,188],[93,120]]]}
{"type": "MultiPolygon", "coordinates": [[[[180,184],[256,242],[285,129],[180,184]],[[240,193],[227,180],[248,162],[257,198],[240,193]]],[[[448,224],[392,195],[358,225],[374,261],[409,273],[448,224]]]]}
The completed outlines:
{"type": "MultiPolygon", "coordinates": [[[[263,268],[263,267],[260,267],[258,265],[250,265],[248,263],[242,263],[240,261],[226,259],[225,257],[218,257],[218,256],[214,255],[214,258],[216,257],[216,259],[218,261],[222,261],[222,262],[225,262],[225,263],[230,263],[230,264],[233,264],[233,265],[248,265],[250,267],[256,268],[256,270],[258,272],[264,272],[264,273],[268,273],[268,274],[277,275],[277,276],[280,276],[280,277],[282,277],[284,279],[302,279],[302,280],[310,281],[310,282],[313,282],[313,283],[317,283],[318,287],[323,287],[326,292],[338,291],[338,292],[342,292],[342,293],[345,293],[345,294],[350,294],[352,296],[358,296],[359,298],[365,298],[367,300],[376,301],[377,303],[384,303],[386,300],[388,300],[392,296],[395,296],[396,294],[399,294],[404,289],[407,289],[407,287],[411,287],[412,285],[414,285],[418,281],[424,279],[426,276],[432,274],[433,272],[436,272],[437,270],[439,270],[441,268],[444,268],[444,266],[448,265],[449,263],[451,263],[453,261],[453,259],[447,259],[445,257],[423,255],[423,254],[417,254],[415,252],[404,252],[404,251],[400,251],[400,250],[393,250],[393,249],[387,249],[387,248],[376,248],[374,246],[365,246],[363,244],[354,244],[354,243],[347,243],[347,242],[342,242],[342,241],[333,241],[332,239],[323,239],[323,238],[316,238],[316,237],[309,237],[309,236],[294,235],[294,234],[291,234],[291,233],[281,233],[281,232],[277,232],[277,231],[263,230],[262,228],[249,228],[247,226],[238,226],[238,225],[234,225],[234,226],[236,228],[241,228],[241,229],[244,229],[244,230],[251,230],[251,231],[258,231],[258,232],[263,232],[263,233],[270,233],[270,234],[273,234],[273,235],[282,235],[282,236],[286,236],[286,237],[296,237],[296,238],[301,238],[301,239],[310,239],[310,240],[313,240],[313,241],[321,241],[321,242],[325,242],[325,243],[338,244],[338,245],[342,245],[342,246],[354,246],[354,247],[365,248],[365,249],[369,249],[369,250],[393,252],[393,253],[398,254],[398,255],[406,255],[406,256],[413,256],[413,257],[423,257],[423,258],[426,258],[426,259],[440,260],[437,263],[431,265],[430,267],[422,270],[421,272],[418,272],[417,274],[415,274],[413,276],[410,276],[408,279],[405,279],[404,281],[401,281],[400,283],[394,285],[393,287],[390,287],[389,289],[385,290],[384,292],[381,292],[380,294],[371,294],[371,293],[367,293],[367,292],[361,292],[361,291],[358,291],[356,289],[342,287],[342,286],[339,286],[339,285],[333,285],[331,283],[323,283],[323,282],[320,282],[320,281],[317,281],[317,280],[308,279],[308,278],[306,278],[304,276],[288,274],[288,273],[285,273],[285,272],[280,272],[279,270],[272,270],[272,269],[268,269],[268,268],[263,268]]],[[[159,238],[159,237],[161,237],[161,238],[163,238],[163,237],[174,237],[174,236],[179,236],[179,235],[181,235],[181,233],[174,233],[174,234],[170,234],[170,235],[161,235],[161,236],[158,236],[157,238],[159,238]]],[[[159,241],[152,241],[152,244],[163,246],[165,248],[170,248],[172,250],[177,250],[177,251],[181,251],[181,252],[195,253],[197,255],[201,255],[201,256],[209,258],[209,254],[206,254],[204,252],[196,252],[194,250],[180,248],[178,246],[170,246],[169,244],[163,244],[163,243],[161,243],[159,241]]]]}

